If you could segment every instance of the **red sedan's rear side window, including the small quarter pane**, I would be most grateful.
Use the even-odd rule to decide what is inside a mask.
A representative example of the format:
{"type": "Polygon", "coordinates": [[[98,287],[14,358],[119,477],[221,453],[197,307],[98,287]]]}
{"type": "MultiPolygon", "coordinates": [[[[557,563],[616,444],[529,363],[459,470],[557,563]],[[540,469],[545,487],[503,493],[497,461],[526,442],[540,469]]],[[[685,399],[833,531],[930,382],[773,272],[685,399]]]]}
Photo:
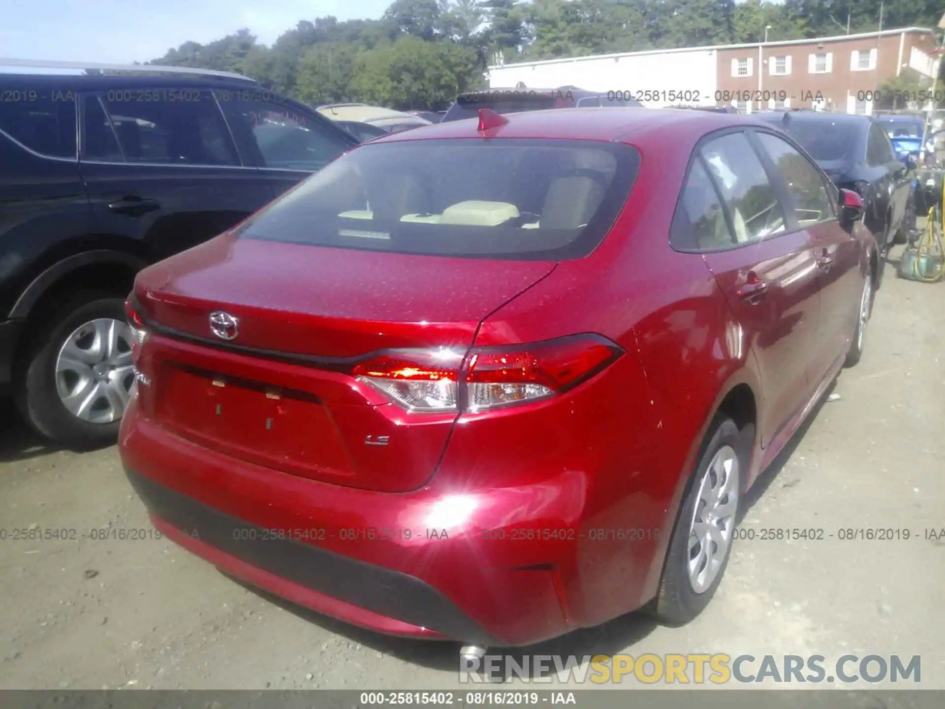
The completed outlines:
{"type": "Polygon", "coordinates": [[[674,215],[674,248],[730,249],[785,230],[782,204],[744,133],[723,135],[696,151],[674,215]]]}

